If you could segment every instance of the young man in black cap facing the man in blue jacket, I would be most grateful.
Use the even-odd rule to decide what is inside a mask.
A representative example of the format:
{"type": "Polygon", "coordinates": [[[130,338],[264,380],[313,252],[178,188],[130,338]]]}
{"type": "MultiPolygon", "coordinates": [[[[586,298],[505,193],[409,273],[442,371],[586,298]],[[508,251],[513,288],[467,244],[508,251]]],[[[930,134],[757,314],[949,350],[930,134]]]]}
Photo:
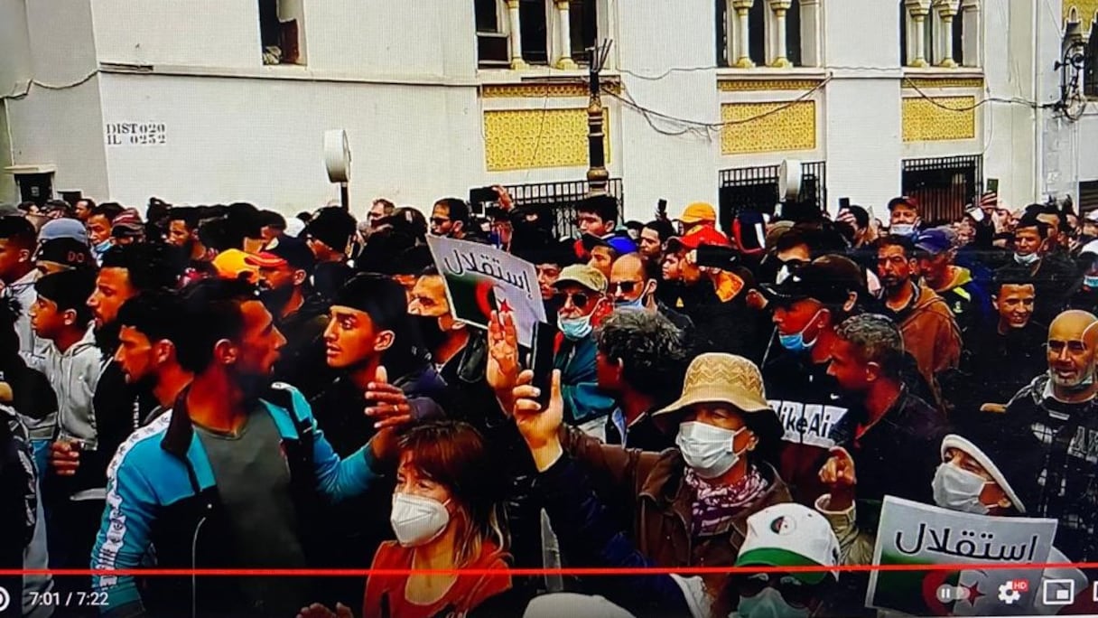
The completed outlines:
{"type": "MultiPolygon", "coordinates": [[[[446,383],[419,343],[405,298],[396,282],[361,274],[333,299],[324,341],[327,365],[339,377],[310,404],[340,456],[348,456],[377,433],[373,419],[362,416],[363,408],[399,408],[416,420],[442,416],[438,400],[446,383]],[[393,379],[381,379],[382,375],[393,379]]],[[[378,544],[390,538],[386,507],[391,493],[392,486],[381,483],[325,518],[327,551],[320,559],[325,566],[370,566],[378,544]]],[[[332,580],[326,585],[328,594],[345,605],[362,599],[361,577],[332,580]]]]}

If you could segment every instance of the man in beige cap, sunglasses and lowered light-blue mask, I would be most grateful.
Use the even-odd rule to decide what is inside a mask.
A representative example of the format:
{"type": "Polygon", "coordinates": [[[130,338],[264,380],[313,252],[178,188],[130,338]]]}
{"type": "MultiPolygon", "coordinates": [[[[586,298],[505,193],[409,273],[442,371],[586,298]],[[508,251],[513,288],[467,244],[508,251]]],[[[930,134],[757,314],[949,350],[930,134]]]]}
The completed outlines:
{"type": "Polygon", "coordinates": [[[605,305],[606,277],[586,264],[573,264],[557,283],[557,325],[553,368],[561,371],[564,420],[589,433],[604,431],[603,419],[614,409],[614,398],[598,389],[594,316],[605,305]]]}

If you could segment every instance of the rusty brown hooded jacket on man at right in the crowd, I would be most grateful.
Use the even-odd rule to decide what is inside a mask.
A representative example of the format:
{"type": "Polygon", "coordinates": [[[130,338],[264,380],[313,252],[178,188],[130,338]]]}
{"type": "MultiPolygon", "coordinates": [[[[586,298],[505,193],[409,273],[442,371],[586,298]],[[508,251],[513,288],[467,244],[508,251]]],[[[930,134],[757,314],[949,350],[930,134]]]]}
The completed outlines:
{"type": "Polygon", "coordinates": [[[918,296],[915,301],[895,317],[904,335],[904,347],[915,356],[919,373],[941,402],[934,377],[957,366],[961,360],[961,330],[949,305],[940,296],[926,286],[917,286],[916,289],[918,296]]]}

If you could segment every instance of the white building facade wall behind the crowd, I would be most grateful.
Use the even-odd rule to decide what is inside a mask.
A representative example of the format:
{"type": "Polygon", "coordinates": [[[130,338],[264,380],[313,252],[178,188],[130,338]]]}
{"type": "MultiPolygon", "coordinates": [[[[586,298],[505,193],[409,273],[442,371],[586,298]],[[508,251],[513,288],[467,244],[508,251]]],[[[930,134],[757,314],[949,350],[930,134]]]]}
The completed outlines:
{"type": "MultiPolygon", "coordinates": [[[[3,148],[0,163],[55,165],[57,190],[81,189],[98,199],[246,199],[290,213],[336,197],[321,163],[321,140],[325,130],[344,128],[354,151],[357,205],[386,196],[426,207],[482,184],[584,177],[585,166],[486,169],[485,110],[576,109],[585,101],[491,99],[481,96],[482,85],[574,84],[583,74],[478,70],[472,2],[299,4],[304,66],[262,65],[251,0],[0,3],[0,93],[16,90],[32,75],[66,86],[100,70],[80,86],[35,86],[25,98],[5,100],[0,146],[9,141],[7,125],[11,147],[3,148]],[[131,65],[136,66],[125,68],[131,65]],[[109,145],[108,128],[117,123],[163,124],[165,142],[109,145]]],[[[982,0],[984,65],[953,75],[983,77],[983,97],[1055,100],[1058,74],[1051,67],[1060,54],[1061,0],[1037,4],[982,0]]],[[[602,5],[609,8],[601,14],[602,32],[615,41],[608,73],[620,79],[621,96],[666,115],[718,122],[722,102],[798,95],[720,92],[718,80],[830,79],[813,95],[816,147],[799,152],[725,155],[718,130],[684,131],[682,123],[646,120],[604,97],[608,167],[625,179],[628,218],[648,219],[660,198],[669,200],[672,213],[690,201],[716,203],[719,169],[784,158],[826,159],[829,207],[849,197],[876,207],[878,216],[900,191],[904,158],[983,154],[984,177],[998,178],[1000,195],[1011,205],[1074,192],[1080,179],[1098,178],[1098,148],[1090,147],[1098,136],[1096,111],[1073,123],[1024,102],[988,102],[976,112],[973,140],[905,143],[901,98],[911,92],[904,76],[942,76],[950,69],[899,66],[896,2],[825,0],[826,66],[793,70],[716,69],[710,0],[602,5]],[[1034,156],[1040,151],[1045,154],[1034,156]]],[[[0,180],[0,196],[14,197],[10,176],[0,180]]]]}

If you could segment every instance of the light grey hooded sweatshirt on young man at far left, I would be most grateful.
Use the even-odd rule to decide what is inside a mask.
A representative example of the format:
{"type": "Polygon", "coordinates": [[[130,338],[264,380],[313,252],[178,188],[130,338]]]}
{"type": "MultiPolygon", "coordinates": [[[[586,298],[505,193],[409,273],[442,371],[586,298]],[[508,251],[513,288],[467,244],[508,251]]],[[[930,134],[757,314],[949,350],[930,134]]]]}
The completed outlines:
{"type": "MultiPolygon", "coordinates": [[[[49,385],[57,394],[57,435],[63,440],[82,442],[82,451],[96,451],[99,448],[96,431],[96,410],[92,398],[99,376],[103,372],[103,358],[96,346],[92,329],[88,329],[83,339],[61,352],[54,343],[49,344],[45,374],[49,385]]],[[[88,466],[81,466],[72,478],[71,498],[102,499],[107,479],[88,466]],[[88,492],[91,489],[92,492],[88,492]]]]}

